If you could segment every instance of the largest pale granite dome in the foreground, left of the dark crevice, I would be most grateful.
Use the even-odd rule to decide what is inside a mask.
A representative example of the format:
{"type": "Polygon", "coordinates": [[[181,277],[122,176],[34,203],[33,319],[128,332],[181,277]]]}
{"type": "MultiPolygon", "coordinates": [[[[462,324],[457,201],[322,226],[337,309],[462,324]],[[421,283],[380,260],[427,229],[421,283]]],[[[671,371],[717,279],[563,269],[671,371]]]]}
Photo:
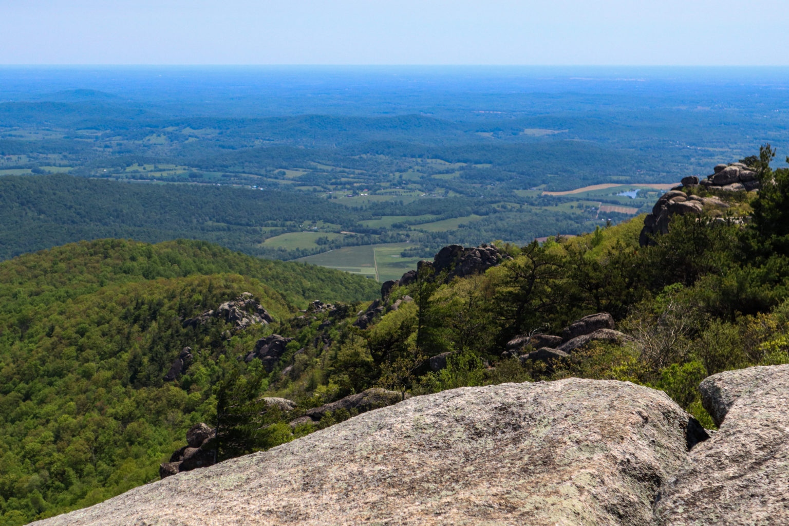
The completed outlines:
{"type": "Polygon", "coordinates": [[[687,425],[628,382],[465,387],[36,524],[653,525],[687,425]]]}

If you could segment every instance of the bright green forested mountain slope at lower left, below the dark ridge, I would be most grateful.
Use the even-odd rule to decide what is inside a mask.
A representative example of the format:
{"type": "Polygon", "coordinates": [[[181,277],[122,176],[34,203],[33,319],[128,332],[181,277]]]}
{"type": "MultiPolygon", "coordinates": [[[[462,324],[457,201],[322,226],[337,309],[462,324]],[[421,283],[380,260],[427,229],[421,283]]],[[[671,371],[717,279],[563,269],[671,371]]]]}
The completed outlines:
{"type": "Polygon", "coordinates": [[[275,324],[317,298],[377,289],[202,241],[82,242],[0,263],[0,524],[155,478],[185,429],[215,414],[225,356],[271,332],[229,339],[234,323],[186,319],[249,293],[275,324]],[[163,376],[187,346],[196,376],[174,386],[163,376]]]}

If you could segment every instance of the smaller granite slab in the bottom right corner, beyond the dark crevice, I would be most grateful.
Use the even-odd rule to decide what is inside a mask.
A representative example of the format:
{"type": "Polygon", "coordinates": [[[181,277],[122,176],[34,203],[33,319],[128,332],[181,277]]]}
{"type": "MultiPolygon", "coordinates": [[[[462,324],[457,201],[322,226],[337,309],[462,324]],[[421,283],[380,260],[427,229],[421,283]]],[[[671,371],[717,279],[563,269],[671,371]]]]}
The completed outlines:
{"type": "Polygon", "coordinates": [[[660,524],[789,524],[789,365],[726,371],[700,388],[720,430],[667,480],[660,524]]]}

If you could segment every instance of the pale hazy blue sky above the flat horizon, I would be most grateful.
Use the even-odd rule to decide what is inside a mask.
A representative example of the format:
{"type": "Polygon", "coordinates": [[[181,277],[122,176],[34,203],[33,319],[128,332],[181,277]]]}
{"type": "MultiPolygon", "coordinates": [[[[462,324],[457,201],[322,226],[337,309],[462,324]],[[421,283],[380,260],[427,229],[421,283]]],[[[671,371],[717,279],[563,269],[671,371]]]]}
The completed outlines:
{"type": "Polygon", "coordinates": [[[0,64],[789,65],[785,0],[0,0],[0,64]]]}

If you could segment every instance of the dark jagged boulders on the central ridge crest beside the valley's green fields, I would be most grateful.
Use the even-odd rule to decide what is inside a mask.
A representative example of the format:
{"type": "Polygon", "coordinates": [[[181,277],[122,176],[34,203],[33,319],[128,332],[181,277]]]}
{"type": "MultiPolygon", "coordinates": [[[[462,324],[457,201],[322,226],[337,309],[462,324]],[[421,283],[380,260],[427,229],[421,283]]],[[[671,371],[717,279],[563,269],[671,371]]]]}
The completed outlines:
{"type": "Polygon", "coordinates": [[[381,285],[381,297],[389,296],[391,289],[398,285],[408,285],[417,279],[417,272],[422,267],[432,267],[436,275],[446,273],[447,281],[452,278],[463,278],[471,274],[481,274],[490,267],[495,267],[504,259],[512,259],[504,252],[499,252],[493,245],[482,244],[479,247],[464,248],[460,244],[448,245],[433,258],[432,262],[423,260],[417,263],[417,270],[409,270],[402,278],[389,280],[381,285]]]}

